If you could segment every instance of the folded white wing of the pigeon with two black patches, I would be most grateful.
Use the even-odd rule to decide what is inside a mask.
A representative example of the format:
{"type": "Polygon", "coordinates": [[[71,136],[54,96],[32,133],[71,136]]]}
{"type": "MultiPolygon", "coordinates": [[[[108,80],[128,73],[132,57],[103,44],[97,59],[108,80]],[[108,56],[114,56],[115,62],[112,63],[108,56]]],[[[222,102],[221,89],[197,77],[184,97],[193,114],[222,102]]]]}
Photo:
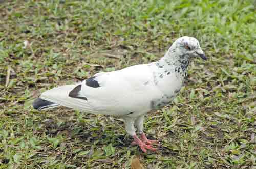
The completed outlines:
{"type": "Polygon", "coordinates": [[[73,86],[42,93],[40,98],[94,114],[141,114],[150,110],[151,100],[161,96],[147,64],[99,73],[73,86]]]}

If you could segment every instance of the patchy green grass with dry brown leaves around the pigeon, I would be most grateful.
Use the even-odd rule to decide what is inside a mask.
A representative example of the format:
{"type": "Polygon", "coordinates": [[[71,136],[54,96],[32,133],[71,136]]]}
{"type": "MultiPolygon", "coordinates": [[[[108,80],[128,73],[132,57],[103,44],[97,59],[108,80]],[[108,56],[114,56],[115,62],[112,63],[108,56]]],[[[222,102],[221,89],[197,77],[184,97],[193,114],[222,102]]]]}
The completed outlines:
{"type": "Polygon", "coordinates": [[[255,169],[255,5],[1,1],[0,168],[130,168],[138,156],[145,168],[255,169]],[[161,140],[156,153],[130,146],[111,116],[31,107],[54,86],[155,61],[183,35],[209,60],[191,63],[180,95],[147,115],[146,133],[161,140]]]}

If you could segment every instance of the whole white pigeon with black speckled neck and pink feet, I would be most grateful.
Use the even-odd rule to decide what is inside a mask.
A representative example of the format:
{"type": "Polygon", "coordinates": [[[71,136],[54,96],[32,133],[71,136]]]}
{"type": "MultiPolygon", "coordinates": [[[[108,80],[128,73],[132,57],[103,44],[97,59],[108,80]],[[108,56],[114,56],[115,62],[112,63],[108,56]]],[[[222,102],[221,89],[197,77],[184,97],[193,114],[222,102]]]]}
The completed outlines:
{"type": "Polygon", "coordinates": [[[37,110],[65,106],[91,114],[113,115],[124,120],[132,145],[143,152],[156,151],[143,132],[145,114],[170,103],[180,92],[192,58],[206,60],[198,40],[180,37],[158,61],[99,72],[74,85],[45,91],[33,102],[37,110]],[[136,129],[140,137],[136,135],[136,129]]]}

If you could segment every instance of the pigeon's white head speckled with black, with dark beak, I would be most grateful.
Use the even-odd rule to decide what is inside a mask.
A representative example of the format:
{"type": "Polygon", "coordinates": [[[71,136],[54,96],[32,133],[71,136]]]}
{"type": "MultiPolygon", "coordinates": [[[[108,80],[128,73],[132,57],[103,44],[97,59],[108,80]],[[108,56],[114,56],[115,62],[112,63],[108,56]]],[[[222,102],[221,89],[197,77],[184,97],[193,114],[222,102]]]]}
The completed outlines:
{"type": "Polygon", "coordinates": [[[198,40],[193,37],[180,37],[174,42],[172,50],[175,50],[183,59],[200,57],[203,60],[207,60],[198,40]]]}

